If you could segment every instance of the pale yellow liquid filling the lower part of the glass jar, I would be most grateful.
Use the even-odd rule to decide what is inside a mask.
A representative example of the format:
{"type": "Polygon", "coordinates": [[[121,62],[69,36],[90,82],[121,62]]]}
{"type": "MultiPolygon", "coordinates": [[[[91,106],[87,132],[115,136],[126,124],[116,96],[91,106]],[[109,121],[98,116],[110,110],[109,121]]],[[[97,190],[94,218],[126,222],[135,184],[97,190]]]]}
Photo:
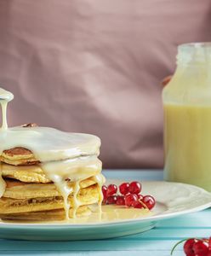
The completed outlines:
{"type": "Polygon", "coordinates": [[[164,178],[211,191],[211,106],[164,104],[164,178]]]}

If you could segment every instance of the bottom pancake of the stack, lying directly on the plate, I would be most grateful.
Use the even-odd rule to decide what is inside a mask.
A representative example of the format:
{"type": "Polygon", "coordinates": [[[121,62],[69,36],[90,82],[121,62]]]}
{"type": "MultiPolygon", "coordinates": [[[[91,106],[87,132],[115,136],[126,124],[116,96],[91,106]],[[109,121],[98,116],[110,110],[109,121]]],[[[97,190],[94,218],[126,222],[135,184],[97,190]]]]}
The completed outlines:
{"type": "MultiPolygon", "coordinates": [[[[69,210],[69,216],[72,218],[72,208],[69,210]]],[[[77,208],[77,217],[90,215],[92,212],[88,206],[77,208]]],[[[51,221],[65,219],[63,209],[42,211],[42,212],[22,212],[22,213],[0,213],[0,218],[5,220],[30,220],[30,221],[51,221]]]]}

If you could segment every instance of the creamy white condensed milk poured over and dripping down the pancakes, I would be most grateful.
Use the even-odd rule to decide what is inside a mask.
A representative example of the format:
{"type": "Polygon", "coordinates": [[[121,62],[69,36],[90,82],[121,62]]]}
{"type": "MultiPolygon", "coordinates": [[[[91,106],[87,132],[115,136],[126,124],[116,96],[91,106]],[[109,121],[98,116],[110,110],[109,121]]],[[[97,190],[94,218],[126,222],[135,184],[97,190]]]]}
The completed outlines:
{"type": "MultiPolygon", "coordinates": [[[[66,219],[69,219],[69,209],[73,208],[73,218],[76,218],[77,193],[79,183],[88,177],[94,177],[99,185],[99,211],[103,195],[101,186],[105,178],[101,175],[100,138],[83,133],[68,133],[48,127],[12,127],[7,125],[7,104],[14,96],[7,90],[0,89],[0,103],[3,113],[3,124],[0,131],[0,154],[3,150],[22,147],[31,150],[46,176],[54,182],[64,199],[66,219]],[[86,172],[83,170],[86,166],[86,172]],[[88,168],[88,166],[90,166],[88,168]],[[74,182],[74,188],[69,182],[74,182]],[[73,190],[73,191],[72,191],[73,190]],[[73,192],[72,206],[68,196],[73,192]]],[[[3,196],[6,184],[0,176],[0,197],[3,196]]]]}

